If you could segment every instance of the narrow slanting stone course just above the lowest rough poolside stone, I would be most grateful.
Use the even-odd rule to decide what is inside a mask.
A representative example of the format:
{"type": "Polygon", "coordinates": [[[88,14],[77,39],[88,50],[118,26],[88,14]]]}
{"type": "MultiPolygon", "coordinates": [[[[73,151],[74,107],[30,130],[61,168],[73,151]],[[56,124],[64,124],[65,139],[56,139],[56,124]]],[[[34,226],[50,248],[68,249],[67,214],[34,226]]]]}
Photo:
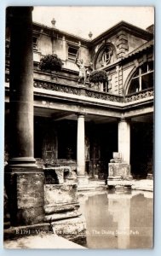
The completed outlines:
{"type": "Polygon", "coordinates": [[[78,210],[66,211],[60,213],[53,213],[45,216],[45,221],[54,221],[57,219],[75,218],[80,216],[82,213],[78,210]]]}

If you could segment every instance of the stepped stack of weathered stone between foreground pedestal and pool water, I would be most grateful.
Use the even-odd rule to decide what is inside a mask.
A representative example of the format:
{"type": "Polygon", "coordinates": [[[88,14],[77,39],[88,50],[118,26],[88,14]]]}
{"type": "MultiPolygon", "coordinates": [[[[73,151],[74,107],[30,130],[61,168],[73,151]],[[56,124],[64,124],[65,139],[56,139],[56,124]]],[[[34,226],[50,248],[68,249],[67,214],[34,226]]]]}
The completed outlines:
{"type": "Polygon", "coordinates": [[[79,210],[77,184],[46,184],[44,189],[45,221],[52,225],[57,235],[84,241],[86,224],[79,210]]]}

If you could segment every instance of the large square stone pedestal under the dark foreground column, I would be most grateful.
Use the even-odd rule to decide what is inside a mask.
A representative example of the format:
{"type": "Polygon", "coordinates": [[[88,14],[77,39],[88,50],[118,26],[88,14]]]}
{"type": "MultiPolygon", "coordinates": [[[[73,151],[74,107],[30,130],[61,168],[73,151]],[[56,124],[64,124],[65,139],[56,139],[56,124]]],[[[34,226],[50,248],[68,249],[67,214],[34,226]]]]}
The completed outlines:
{"type": "Polygon", "coordinates": [[[38,224],[44,221],[44,174],[38,168],[8,167],[5,187],[9,197],[12,226],[38,224]]]}

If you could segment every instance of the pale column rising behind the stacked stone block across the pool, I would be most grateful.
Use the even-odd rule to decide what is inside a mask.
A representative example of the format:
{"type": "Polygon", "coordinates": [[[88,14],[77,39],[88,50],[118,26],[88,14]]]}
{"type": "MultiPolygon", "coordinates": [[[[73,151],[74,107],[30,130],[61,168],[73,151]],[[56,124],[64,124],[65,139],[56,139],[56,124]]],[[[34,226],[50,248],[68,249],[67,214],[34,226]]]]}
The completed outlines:
{"type": "Polygon", "coordinates": [[[118,122],[118,152],[122,154],[122,160],[129,164],[130,125],[125,119],[120,119],[118,122]]]}

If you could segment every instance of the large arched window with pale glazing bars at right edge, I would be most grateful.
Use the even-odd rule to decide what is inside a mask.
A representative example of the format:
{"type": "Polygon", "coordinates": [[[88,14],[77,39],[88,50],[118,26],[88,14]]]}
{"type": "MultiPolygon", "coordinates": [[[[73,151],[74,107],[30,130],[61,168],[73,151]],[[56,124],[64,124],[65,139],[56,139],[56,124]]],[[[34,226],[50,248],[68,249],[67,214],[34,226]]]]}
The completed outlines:
{"type": "Polygon", "coordinates": [[[130,80],[128,94],[153,87],[153,62],[138,67],[130,80]]]}

